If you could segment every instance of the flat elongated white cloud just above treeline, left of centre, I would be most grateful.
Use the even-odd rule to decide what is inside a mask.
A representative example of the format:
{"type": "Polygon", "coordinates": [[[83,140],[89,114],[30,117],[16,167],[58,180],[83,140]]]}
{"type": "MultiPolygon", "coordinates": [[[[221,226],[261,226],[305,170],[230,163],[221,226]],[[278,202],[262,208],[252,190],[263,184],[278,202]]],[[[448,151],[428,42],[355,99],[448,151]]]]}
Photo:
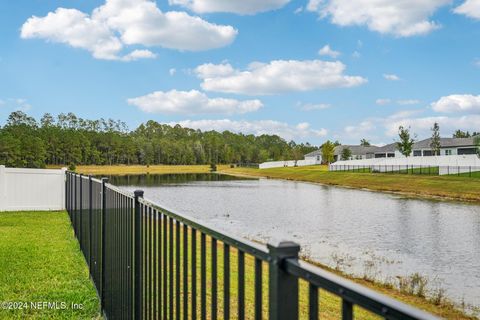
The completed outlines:
{"type": "Polygon", "coordinates": [[[203,92],[197,90],[167,92],[155,91],[145,96],[127,100],[148,113],[168,114],[243,114],[257,111],[263,107],[260,100],[239,101],[225,98],[209,98],[203,92]]]}

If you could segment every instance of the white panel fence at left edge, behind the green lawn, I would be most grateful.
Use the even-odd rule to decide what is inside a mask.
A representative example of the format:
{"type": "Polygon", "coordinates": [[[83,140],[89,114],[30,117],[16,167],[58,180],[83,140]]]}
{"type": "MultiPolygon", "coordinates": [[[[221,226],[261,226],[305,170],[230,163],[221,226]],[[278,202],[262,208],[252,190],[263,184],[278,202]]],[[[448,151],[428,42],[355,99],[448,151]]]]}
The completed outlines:
{"type": "Polygon", "coordinates": [[[0,166],[0,211],[64,210],[65,171],[0,166]]]}

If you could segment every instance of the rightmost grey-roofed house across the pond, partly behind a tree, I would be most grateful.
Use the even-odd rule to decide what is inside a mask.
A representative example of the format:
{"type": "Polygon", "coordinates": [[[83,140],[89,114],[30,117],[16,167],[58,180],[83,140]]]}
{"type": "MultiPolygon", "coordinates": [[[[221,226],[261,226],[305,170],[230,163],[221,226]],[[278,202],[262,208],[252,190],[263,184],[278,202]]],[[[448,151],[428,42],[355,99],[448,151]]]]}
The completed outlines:
{"type": "MultiPolygon", "coordinates": [[[[475,139],[480,136],[470,138],[440,138],[440,156],[455,156],[465,154],[477,154],[479,146],[476,145],[475,139]]],[[[416,142],[413,145],[414,157],[433,156],[433,150],[430,146],[432,139],[425,139],[416,142]]]]}

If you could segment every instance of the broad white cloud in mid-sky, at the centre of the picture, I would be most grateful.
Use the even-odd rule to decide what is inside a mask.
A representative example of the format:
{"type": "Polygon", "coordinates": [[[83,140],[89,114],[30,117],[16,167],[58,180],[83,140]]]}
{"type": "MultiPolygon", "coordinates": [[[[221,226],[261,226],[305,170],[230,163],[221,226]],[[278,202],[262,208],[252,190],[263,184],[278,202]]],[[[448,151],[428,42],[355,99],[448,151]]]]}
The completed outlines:
{"type": "Polygon", "coordinates": [[[195,69],[204,90],[246,95],[354,87],[367,82],[360,76],[344,75],[344,71],[343,63],[322,60],[255,62],[243,71],[230,64],[206,64],[195,69]]]}

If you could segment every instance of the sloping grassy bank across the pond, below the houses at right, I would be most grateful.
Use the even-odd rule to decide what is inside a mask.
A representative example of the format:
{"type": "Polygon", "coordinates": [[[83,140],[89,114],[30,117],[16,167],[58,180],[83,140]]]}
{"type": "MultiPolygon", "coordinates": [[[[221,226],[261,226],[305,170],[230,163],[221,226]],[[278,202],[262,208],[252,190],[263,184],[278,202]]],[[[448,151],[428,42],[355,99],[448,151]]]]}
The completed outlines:
{"type": "Polygon", "coordinates": [[[462,176],[420,176],[386,173],[329,172],[326,166],[273,169],[224,168],[223,173],[287,179],[410,196],[480,202],[480,181],[462,176]]]}

